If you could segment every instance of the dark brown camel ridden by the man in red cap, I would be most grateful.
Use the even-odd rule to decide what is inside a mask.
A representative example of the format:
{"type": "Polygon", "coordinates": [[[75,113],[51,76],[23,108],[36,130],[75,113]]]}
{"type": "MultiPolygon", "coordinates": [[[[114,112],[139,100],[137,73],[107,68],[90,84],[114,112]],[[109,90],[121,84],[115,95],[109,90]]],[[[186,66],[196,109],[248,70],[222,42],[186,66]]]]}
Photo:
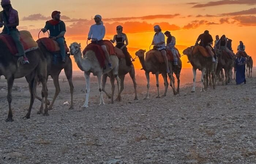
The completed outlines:
{"type": "MultiPolygon", "coordinates": [[[[42,44],[42,42],[38,42],[38,47],[42,50],[42,52],[45,54],[47,58],[47,77],[50,75],[53,79],[53,83],[55,86],[55,94],[52,100],[52,103],[49,106],[49,110],[52,110],[53,104],[60,93],[60,85],[59,85],[59,75],[61,70],[64,69],[65,75],[68,79],[69,87],[70,87],[70,94],[71,94],[71,104],[69,109],[73,109],[73,91],[74,86],[72,83],[72,61],[68,54],[66,54],[66,63],[61,63],[61,57],[57,57],[57,60],[54,60],[54,54],[52,52],[49,52],[45,46],[42,44]]],[[[48,78],[47,78],[48,79],[48,78]]],[[[36,93],[35,93],[36,95],[36,93]]],[[[39,99],[42,103],[42,99],[36,95],[36,98],[39,99]]],[[[41,106],[42,108],[42,106],[41,106]]]]}

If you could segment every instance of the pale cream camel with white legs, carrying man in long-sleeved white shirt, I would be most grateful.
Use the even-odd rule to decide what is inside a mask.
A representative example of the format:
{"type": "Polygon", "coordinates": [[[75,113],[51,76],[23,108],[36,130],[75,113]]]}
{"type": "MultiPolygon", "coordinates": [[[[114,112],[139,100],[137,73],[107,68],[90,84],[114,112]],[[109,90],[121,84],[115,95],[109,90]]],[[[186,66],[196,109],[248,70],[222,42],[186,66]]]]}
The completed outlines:
{"type": "MultiPolygon", "coordinates": [[[[86,79],[86,101],[84,102],[83,108],[88,108],[88,101],[89,101],[89,93],[90,93],[90,73],[93,73],[93,75],[97,76],[98,78],[98,89],[100,93],[100,104],[104,105],[104,100],[102,97],[102,83],[101,78],[103,74],[108,74],[110,77],[110,82],[112,85],[112,97],[111,97],[111,103],[114,103],[113,95],[114,95],[114,79],[117,80],[118,85],[118,97],[120,96],[120,78],[118,77],[118,63],[119,60],[116,55],[110,55],[110,59],[112,62],[112,69],[109,69],[107,67],[105,70],[100,66],[95,53],[91,50],[87,51],[84,57],[82,58],[82,52],[81,52],[81,44],[79,43],[72,43],[70,46],[70,53],[71,55],[74,55],[75,62],[78,65],[79,69],[84,71],[84,77],[86,79]]],[[[105,63],[107,63],[105,61],[105,63]]]]}

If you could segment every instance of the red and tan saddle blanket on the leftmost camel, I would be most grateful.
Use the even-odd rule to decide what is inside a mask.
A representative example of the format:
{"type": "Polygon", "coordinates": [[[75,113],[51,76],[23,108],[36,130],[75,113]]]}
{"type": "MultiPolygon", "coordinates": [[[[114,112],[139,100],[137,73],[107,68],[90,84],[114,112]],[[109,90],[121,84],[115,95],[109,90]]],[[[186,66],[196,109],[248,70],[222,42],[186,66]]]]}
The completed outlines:
{"type": "MultiPolygon", "coordinates": [[[[30,34],[29,31],[21,30],[19,32],[20,41],[24,47],[25,52],[29,52],[38,48],[37,42],[35,42],[35,40],[32,38],[32,35],[30,34]]],[[[0,35],[0,40],[2,40],[6,44],[7,48],[10,50],[12,55],[19,56],[14,40],[10,35],[0,35]]]]}

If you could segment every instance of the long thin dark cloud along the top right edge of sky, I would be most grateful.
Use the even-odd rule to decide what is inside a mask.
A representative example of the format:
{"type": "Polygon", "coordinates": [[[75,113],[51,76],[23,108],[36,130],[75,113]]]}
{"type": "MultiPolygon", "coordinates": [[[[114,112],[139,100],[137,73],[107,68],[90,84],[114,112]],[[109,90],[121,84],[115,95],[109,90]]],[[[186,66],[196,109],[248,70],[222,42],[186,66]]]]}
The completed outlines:
{"type": "Polygon", "coordinates": [[[256,0],[220,0],[220,1],[211,1],[206,4],[196,4],[193,8],[201,8],[201,7],[210,7],[210,6],[218,6],[218,5],[227,5],[227,4],[247,4],[247,5],[255,5],[256,0]]]}

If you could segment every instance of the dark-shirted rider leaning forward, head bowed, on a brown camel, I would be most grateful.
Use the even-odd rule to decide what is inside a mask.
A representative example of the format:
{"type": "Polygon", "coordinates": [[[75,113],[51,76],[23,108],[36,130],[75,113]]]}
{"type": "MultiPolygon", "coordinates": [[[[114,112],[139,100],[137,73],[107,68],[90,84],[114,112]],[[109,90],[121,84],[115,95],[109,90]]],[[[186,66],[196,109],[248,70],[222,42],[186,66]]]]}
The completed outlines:
{"type": "Polygon", "coordinates": [[[206,30],[204,31],[203,34],[200,34],[196,40],[196,44],[195,45],[199,45],[199,46],[203,46],[204,48],[207,49],[208,53],[211,55],[212,57],[212,62],[215,62],[215,58],[214,58],[214,52],[212,52],[211,50],[211,44],[213,42],[212,36],[209,34],[209,31],[206,30]],[[200,44],[198,44],[198,42],[200,41],[200,44]]]}

